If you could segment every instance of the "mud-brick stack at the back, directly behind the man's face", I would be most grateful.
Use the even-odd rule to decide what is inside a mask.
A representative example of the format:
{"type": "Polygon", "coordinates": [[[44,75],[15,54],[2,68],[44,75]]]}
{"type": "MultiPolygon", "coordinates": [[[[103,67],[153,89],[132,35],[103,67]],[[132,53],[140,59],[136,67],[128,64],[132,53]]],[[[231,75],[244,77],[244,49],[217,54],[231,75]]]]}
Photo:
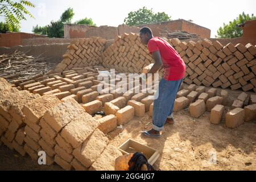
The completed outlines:
{"type": "MultiPolygon", "coordinates": [[[[154,63],[147,47],[141,43],[138,34],[122,34],[106,48],[102,65],[114,68],[119,72],[142,73],[147,65],[154,63]]],[[[159,73],[161,77],[163,72],[159,73]]]]}

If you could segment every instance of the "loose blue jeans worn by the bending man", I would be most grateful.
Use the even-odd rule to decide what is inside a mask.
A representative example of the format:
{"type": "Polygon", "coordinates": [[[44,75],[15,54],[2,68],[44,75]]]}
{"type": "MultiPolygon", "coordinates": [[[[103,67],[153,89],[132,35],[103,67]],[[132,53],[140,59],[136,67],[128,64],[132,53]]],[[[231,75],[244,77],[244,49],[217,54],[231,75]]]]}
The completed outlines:
{"type": "Polygon", "coordinates": [[[172,118],[172,111],[174,110],[174,102],[177,92],[183,79],[177,81],[160,80],[158,98],[154,100],[153,107],[153,129],[156,131],[163,131],[166,119],[172,118]]]}

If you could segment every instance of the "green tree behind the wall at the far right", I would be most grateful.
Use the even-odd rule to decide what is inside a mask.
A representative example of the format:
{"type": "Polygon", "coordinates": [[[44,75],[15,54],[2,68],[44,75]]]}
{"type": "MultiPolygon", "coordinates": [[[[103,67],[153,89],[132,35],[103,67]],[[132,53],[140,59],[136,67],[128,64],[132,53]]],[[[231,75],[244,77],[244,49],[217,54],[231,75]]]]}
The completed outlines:
{"type": "Polygon", "coordinates": [[[238,24],[245,23],[247,20],[256,19],[256,16],[254,14],[245,14],[244,12],[242,14],[239,14],[236,19],[234,19],[232,22],[229,22],[229,24],[223,24],[222,27],[218,28],[216,36],[217,38],[237,38],[242,36],[243,31],[240,27],[238,27],[238,24]]]}

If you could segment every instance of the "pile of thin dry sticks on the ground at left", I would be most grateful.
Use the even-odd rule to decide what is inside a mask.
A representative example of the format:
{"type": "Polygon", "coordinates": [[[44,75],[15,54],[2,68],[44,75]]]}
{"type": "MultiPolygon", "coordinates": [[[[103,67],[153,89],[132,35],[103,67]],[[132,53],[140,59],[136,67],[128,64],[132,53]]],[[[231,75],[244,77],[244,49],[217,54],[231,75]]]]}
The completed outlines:
{"type": "Polygon", "coordinates": [[[46,58],[27,56],[15,51],[10,55],[0,55],[0,77],[7,81],[30,78],[48,70],[46,58]]]}

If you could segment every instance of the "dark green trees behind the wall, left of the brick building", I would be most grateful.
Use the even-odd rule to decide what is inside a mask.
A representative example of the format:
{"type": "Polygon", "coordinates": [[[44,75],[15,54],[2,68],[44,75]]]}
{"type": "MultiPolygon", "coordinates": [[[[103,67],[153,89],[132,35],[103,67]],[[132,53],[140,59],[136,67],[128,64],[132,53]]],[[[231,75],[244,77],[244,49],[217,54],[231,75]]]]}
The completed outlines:
{"type": "MultiPolygon", "coordinates": [[[[72,8],[69,8],[61,14],[60,19],[51,21],[47,26],[40,27],[36,25],[33,27],[32,32],[35,34],[46,35],[49,38],[63,38],[64,37],[64,24],[71,23],[75,13],[72,8]]],[[[75,24],[89,24],[90,26],[96,26],[91,18],[84,18],[75,22],[75,24]]]]}

